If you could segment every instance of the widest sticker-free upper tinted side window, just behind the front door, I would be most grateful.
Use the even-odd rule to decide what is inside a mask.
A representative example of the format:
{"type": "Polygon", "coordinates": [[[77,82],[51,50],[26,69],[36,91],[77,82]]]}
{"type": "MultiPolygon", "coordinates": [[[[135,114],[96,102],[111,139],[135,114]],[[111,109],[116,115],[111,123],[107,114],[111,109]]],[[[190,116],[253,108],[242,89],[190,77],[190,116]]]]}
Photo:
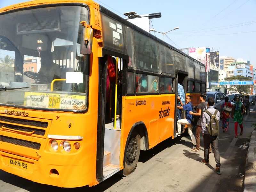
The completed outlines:
{"type": "Polygon", "coordinates": [[[136,68],[159,73],[158,48],[156,41],[134,31],[136,68]]]}

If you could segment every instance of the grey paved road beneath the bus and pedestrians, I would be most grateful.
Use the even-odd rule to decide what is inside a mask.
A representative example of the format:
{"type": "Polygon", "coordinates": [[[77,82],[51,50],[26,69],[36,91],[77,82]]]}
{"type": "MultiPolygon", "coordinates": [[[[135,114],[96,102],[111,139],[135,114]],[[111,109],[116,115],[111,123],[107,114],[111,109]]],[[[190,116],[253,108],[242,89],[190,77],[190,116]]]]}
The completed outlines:
{"type": "Polygon", "coordinates": [[[203,158],[203,140],[200,152],[191,152],[189,136],[168,139],[149,151],[141,151],[137,169],[127,177],[114,175],[94,187],[57,188],[25,180],[0,171],[0,192],[169,192],[169,191],[243,191],[246,150],[238,148],[248,140],[256,122],[256,107],[244,117],[244,135],[234,138],[231,120],[228,133],[221,133],[219,148],[221,175],[214,172],[215,161],[210,156],[210,166],[200,163],[203,158]]]}

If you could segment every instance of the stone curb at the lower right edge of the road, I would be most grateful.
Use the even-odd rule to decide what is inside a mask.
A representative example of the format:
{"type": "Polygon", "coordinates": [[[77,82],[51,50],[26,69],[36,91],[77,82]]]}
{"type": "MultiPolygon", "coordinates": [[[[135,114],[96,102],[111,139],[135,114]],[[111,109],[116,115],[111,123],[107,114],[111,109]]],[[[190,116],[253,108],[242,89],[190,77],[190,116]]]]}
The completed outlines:
{"type": "Polygon", "coordinates": [[[256,129],[253,130],[245,163],[244,192],[256,191],[256,129]]]}

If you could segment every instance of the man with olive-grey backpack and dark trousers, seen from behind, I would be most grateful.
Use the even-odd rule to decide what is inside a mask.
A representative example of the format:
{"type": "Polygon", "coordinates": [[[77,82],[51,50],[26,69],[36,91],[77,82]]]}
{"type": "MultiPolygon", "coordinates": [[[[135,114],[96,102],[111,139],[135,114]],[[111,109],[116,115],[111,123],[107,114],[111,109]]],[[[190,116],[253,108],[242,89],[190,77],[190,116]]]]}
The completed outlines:
{"type": "Polygon", "coordinates": [[[220,112],[213,107],[214,99],[208,98],[208,109],[203,112],[202,132],[204,137],[204,159],[201,163],[209,165],[209,148],[212,145],[212,151],[216,161],[217,174],[220,174],[220,152],[218,148],[218,135],[220,129],[220,112]]]}

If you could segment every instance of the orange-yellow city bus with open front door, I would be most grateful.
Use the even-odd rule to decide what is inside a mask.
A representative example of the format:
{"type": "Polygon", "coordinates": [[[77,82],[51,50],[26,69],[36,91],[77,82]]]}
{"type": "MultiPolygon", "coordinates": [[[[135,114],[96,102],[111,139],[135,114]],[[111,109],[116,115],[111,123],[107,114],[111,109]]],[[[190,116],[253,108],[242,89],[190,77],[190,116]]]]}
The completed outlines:
{"type": "Polygon", "coordinates": [[[0,169],[93,186],[176,136],[177,84],[206,91],[205,67],[91,0],[0,9],[0,169]],[[117,66],[117,67],[116,67],[117,66]]]}

